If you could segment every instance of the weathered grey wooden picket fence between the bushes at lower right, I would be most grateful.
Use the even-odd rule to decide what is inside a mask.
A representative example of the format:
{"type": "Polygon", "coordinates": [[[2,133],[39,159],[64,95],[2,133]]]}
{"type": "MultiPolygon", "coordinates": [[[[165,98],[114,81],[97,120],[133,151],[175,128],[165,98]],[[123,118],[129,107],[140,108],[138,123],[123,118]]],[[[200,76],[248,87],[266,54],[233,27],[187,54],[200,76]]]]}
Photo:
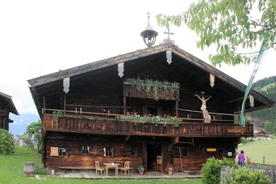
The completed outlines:
{"type": "MultiPolygon", "coordinates": [[[[246,168],[250,169],[252,172],[261,172],[261,174],[268,176],[271,183],[276,183],[276,165],[247,165],[246,168]]],[[[230,166],[223,165],[221,167],[221,183],[226,181],[226,178],[230,180],[232,168],[230,166]]]]}

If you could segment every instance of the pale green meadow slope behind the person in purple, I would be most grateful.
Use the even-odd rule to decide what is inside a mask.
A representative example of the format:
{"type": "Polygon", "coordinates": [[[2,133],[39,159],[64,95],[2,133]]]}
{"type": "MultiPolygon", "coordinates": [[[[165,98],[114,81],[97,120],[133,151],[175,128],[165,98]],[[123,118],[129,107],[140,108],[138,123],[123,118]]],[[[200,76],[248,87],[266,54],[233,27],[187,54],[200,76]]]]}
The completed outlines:
{"type": "Polygon", "coordinates": [[[276,138],[271,140],[255,140],[246,144],[239,145],[239,152],[250,157],[252,163],[263,163],[265,156],[265,164],[276,165],[276,138]]]}

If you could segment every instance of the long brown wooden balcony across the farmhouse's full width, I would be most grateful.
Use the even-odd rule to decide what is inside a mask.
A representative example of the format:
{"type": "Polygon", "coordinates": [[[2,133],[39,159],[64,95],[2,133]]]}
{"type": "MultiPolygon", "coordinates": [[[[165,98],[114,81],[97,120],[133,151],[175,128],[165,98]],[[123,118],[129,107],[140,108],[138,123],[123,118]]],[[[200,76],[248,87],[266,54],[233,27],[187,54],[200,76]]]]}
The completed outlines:
{"type": "Polygon", "coordinates": [[[230,123],[183,122],[178,128],[173,125],[157,126],[152,123],[135,123],[115,118],[86,116],[61,116],[55,122],[52,114],[44,114],[44,131],[63,131],[84,134],[170,137],[250,137],[253,126],[241,127],[230,123]]]}

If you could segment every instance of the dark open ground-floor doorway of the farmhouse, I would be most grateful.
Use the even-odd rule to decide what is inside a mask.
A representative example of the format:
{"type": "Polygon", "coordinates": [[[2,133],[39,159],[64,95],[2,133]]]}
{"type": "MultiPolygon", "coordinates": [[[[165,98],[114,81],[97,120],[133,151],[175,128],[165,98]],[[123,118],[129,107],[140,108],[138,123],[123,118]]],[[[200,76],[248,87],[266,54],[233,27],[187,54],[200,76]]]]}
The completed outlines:
{"type": "Polygon", "coordinates": [[[162,145],[156,143],[147,143],[147,170],[156,171],[157,156],[162,156],[162,145]]]}

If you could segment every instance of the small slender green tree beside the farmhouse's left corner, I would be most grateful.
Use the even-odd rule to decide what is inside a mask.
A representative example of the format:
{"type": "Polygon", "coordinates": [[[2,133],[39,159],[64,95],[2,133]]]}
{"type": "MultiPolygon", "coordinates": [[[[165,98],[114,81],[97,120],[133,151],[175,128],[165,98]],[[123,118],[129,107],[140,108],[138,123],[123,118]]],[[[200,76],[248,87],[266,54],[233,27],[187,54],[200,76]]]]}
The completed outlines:
{"type": "Polygon", "coordinates": [[[32,122],[23,135],[17,135],[26,147],[35,154],[35,165],[38,165],[38,155],[42,152],[42,121],[32,122]]]}

